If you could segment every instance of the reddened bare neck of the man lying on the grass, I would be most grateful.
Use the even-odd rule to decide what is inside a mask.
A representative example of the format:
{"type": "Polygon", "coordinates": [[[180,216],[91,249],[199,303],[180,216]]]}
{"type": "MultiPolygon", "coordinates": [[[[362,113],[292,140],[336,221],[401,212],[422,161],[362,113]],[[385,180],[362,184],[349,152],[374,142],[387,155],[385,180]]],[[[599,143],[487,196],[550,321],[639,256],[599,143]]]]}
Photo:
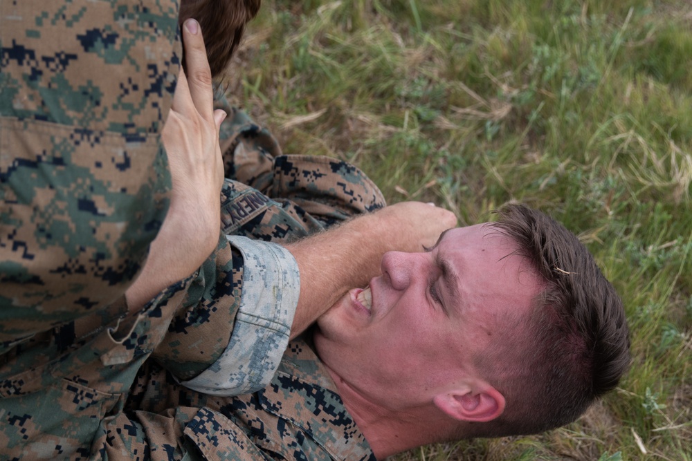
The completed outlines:
{"type": "MultiPolygon", "coordinates": [[[[327,366],[338,394],[379,460],[441,441],[448,418],[432,406],[394,409],[369,399],[327,366]]],[[[448,428],[447,428],[448,431],[448,428]]]]}

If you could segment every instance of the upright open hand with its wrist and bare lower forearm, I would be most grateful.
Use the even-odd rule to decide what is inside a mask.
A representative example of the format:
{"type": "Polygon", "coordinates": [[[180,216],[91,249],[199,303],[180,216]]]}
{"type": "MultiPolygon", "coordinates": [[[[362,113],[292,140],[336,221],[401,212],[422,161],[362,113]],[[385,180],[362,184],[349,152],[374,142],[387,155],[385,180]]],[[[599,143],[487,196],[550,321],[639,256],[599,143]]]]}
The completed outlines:
{"type": "Polygon", "coordinates": [[[163,288],[185,279],[219,241],[224,164],[219,126],[226,112],[213,109],[212,77],[199,23],[183,24],[185,62],[161,132],[172,179],[171,202],[147,263],[125,296],[140,308],[163,288]]]}

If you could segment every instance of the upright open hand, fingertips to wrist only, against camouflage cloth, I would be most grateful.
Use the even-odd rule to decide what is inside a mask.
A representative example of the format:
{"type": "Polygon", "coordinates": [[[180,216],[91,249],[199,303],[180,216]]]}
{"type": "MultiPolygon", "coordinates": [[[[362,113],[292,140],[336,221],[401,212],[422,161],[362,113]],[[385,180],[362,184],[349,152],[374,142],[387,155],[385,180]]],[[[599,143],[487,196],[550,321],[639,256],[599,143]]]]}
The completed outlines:
{"type": "Polygon", "coordinates": [[[183,41],[190,80],[181,69],[161,133],[173,185],[170,209],[163,223],[166,229],[162,228],[161,232],[174,229],[179,241],[176,245],[185,245],[185,250],[189,250],[185,258],[188,268],[185,272],[189,274],[209,256],[219,237],[219,196],[224,184],[219,126],[226,112],[213,109],[212,77],[197,21],[185,21],[183,41]],[[185,228],[190,232],[181,235],[185,228]],[[183,236],[185,240],[180,241],[183,236]]]}

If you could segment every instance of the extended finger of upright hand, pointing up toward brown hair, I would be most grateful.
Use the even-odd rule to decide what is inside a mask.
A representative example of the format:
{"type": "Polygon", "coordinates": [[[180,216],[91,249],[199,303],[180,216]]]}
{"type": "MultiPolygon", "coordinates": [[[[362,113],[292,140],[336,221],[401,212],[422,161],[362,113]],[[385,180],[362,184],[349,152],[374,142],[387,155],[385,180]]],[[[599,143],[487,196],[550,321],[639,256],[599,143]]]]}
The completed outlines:
{"type": "Polygon", "coordinates": [[[185,66],[192,103],[205,120],[213,118],[214,94],[212,73],[209,69],[207,52],[199,23],[188,19],[183,23],[183,43],[185,44],[185,66]]]}

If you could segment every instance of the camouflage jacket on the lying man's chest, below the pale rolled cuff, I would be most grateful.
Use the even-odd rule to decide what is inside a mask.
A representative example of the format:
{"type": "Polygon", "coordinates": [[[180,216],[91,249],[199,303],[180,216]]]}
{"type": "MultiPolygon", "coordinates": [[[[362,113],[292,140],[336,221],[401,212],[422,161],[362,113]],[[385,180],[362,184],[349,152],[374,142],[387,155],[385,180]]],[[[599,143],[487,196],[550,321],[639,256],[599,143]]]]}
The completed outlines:
{"type": "Polygon", "coordinates": [[[289,343],[268,386],[235,397],[179,386],[147,362],[125,411],[95,446],[116,459],[118,453],[147,453],[154,460],[375,459],[327,370],[301,338],[289,343]]]}

